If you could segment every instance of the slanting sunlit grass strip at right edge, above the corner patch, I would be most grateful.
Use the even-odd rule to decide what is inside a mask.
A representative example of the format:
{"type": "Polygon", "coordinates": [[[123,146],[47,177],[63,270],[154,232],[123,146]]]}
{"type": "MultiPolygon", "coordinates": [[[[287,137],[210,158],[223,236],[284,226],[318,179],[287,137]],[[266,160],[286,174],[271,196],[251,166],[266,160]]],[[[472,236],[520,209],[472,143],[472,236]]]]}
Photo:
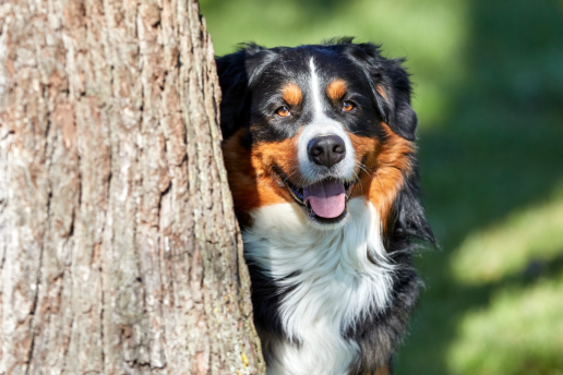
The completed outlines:
{"type": "Polygon", "coordinates": [[[563,186],[537,207],[469,233],[451,256],[452,278],[476,286],[514,278],[523,270],[535,275],[563,259],[562,246],[563,186]]]}

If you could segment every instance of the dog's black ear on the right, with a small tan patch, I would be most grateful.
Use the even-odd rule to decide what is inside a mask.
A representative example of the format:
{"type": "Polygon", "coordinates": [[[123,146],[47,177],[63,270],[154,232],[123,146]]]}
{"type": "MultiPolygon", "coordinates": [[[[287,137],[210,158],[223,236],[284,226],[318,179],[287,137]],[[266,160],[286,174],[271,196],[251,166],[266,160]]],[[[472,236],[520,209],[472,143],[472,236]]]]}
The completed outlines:
{"type": "Polygon", "coordinates": [[[380,47],[372,44],[350,44],[349,47],[352,47],[352,59],[370,78],[382,120],[398,135],[415,141],[418,118],[410,106],[411,85],[403,68],[405,59],[385,59],[380,47]]]}

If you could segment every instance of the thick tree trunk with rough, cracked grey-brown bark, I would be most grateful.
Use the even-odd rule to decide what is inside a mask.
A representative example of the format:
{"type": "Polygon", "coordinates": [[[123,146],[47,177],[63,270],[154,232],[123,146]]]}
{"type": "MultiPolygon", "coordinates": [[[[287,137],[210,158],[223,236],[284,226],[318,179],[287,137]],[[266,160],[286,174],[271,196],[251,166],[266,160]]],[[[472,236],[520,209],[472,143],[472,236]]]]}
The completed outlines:
{"type": "Polygon", "coordinates": [[[0,3],[0,374],[261,374],[195,0],[0,3]]]}

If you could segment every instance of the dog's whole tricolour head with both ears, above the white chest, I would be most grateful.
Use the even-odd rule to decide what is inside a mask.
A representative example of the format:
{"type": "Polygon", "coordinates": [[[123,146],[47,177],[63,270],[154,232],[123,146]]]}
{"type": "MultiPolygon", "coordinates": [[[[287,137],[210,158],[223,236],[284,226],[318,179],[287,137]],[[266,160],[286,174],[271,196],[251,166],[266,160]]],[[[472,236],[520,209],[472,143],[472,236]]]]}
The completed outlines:
{"type": "Polygon", "coordinates": [[[316,228],[346,222],[362,196],[385,227],[414,173],[417,118],[400,60],[351,43],[264,49],[217,60],[221,129],[239,219],[291,203],[316,228]]]}

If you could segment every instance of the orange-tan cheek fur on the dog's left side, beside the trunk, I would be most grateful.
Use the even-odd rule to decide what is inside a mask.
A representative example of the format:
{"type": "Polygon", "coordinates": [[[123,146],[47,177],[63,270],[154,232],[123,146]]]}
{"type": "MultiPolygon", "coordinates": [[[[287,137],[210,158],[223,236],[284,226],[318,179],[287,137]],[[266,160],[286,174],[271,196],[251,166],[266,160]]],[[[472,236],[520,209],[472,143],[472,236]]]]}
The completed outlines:
{"type": "Polygon", "coordinates": [[[272,167],[277,166],[287,176],[298,171],[299,134],[282,142],[254,145],[251,149],[242,146],[243,135],[244,130],[241,129],[227,140],[223,144],[223,154],[237,216],[242,223],[249,223],[253,208],[295,202],[287,188],[280,185],[282,181],[272,167]]]}

